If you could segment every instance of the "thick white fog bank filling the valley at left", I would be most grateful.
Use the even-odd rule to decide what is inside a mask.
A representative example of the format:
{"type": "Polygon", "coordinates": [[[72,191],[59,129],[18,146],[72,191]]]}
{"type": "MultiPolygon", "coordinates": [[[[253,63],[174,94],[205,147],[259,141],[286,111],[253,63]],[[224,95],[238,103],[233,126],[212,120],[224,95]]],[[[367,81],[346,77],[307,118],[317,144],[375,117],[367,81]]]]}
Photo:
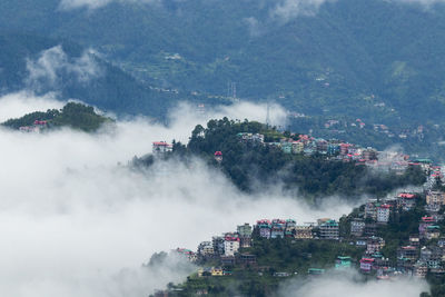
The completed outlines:
{"type": "MultiPolygon", "coordinates": [[[[20,93],[12,97],[0,99],[2,112],[26,110],[20,105],[33,100],[20,93]]],[[[60,107],[51,98],[36,100],[41,110],[60,107]]],[[[339,202],[309,210],[279,187],[259,195],[240,192],[199,159],[189,167],[157,162],[146,172],[126,166],[135,155],[149,152],[152,141],[187,140],[191,128],[208,118],[263,119],[265,108],[241,103],[204,116],[182,106],[172,112],[177,117],[171,116],[169,127],[139,118],[93,135],[70,129],[34,135],[0,128],[0,237],[4,242],[0,291],[17,297],[147,296],[187,275],[168,273],[175,261],[162,268],[166,273],[147,273],[141,264],[155,251],[196,249],[212,235],[264,217],[303,222],[347,214],[353,206],[339,202]]]]}

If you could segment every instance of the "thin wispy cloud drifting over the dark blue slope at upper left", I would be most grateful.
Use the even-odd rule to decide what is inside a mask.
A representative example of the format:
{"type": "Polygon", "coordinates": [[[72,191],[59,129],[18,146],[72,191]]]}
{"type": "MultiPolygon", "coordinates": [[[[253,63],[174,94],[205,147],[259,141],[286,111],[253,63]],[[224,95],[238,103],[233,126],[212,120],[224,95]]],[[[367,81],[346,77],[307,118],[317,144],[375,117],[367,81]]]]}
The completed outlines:
{"type": "Polygon", "coordinates": [[[73,77],[76,82],[85,83],[101,75],[101,69],[93,58],[93,51],[85,51],[79,58],[71,58],[61,46],[42,51],[36,60],[27,60],[29,88],[57,88],[60,78],[73,77]]]}

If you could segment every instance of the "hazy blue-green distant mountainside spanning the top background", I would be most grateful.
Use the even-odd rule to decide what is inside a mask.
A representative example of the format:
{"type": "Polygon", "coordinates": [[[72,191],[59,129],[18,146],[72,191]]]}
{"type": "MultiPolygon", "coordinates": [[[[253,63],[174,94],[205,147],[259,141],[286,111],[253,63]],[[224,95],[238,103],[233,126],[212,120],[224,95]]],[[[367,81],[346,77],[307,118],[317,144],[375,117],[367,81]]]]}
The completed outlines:
{"type": "Polygon", "coordinates": [[[60,3],[2,1],[1,28],[93,47],[158,87],[226,96],[236,82],[241,98],[307,113],[442,121],[441,3],[338,0],[298,11],[271,0],[60,3]]]}

